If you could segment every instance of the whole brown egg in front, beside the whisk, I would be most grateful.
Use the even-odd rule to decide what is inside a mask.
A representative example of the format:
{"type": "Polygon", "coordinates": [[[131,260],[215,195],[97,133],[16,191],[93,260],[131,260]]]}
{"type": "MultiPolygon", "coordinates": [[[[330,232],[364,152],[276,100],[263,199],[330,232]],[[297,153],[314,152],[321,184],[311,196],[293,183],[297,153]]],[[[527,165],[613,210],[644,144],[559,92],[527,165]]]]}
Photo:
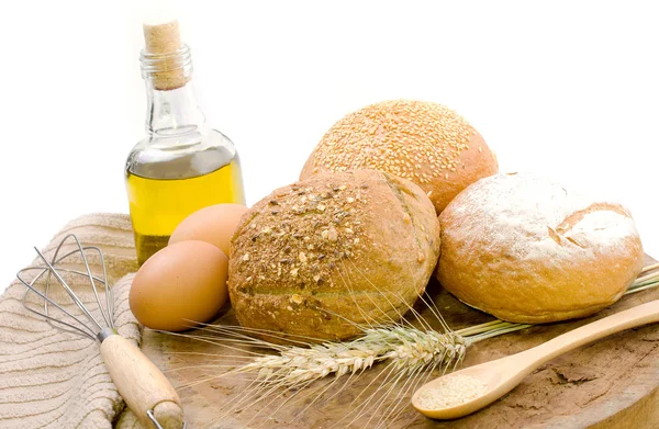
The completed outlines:
{"type": "Polygon", "coordinates": [[[190,240],[152,256],[137,271],[129,302],[146,327],[182,331],[211,321],[226,302],[228,259],[217,247],[190,240]]]}

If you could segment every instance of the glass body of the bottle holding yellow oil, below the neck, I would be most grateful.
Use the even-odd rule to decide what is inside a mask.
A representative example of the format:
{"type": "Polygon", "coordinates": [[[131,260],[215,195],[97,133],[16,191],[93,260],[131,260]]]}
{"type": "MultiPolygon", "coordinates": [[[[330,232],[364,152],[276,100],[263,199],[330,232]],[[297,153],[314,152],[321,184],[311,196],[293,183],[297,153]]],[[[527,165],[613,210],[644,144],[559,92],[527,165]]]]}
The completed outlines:
{"type": "Polygon", "coordinates": [[[141,142],[129,156],[125,184],[139,264],[167,246],[191,213],[213,204],[245,204],[237,151],[216,131],[183,148],[141,142]]]}

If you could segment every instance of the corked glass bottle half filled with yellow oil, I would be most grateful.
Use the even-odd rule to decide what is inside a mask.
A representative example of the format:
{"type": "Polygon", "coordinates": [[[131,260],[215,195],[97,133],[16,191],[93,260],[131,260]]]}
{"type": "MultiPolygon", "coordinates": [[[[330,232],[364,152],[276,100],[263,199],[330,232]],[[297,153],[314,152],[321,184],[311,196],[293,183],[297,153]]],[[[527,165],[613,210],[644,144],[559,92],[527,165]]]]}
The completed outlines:
{"type": "Polygon", "coordinates": [[[147,137],[129,155],[125,183],[137,261],[167,246],[189,214],[213,204],[245,203],[233,143],[205,124],[192,89],[190,49],[176,22],[145,25],[142,74],[147,137]]]}

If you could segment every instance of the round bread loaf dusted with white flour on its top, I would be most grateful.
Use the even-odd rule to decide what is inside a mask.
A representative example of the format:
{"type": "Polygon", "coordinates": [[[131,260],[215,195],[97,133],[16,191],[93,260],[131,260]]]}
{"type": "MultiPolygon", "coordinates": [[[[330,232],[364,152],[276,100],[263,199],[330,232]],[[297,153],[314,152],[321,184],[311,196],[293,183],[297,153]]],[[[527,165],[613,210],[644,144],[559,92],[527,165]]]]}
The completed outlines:
{"type": "Polygon", "coordinates": [[[437,279],[463,303],[504,320],[595,313],[623,295],[644,263],[623,206],[533,174],[482,179],[439,221],[437,279]]]}

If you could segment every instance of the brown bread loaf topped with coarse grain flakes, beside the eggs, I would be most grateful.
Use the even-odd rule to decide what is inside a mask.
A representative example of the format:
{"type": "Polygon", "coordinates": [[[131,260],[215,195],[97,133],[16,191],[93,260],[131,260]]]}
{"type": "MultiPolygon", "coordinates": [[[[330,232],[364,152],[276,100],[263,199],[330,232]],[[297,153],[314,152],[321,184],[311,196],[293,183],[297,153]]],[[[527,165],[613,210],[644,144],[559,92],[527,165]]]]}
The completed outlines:
{"type": "Polygon", "coordinates": [[[339,340],[400,319],[439,256],[439,222],[414,183],[375,170],[276,190],[238,224],[228,290],[244,327],[339,340]]]}

